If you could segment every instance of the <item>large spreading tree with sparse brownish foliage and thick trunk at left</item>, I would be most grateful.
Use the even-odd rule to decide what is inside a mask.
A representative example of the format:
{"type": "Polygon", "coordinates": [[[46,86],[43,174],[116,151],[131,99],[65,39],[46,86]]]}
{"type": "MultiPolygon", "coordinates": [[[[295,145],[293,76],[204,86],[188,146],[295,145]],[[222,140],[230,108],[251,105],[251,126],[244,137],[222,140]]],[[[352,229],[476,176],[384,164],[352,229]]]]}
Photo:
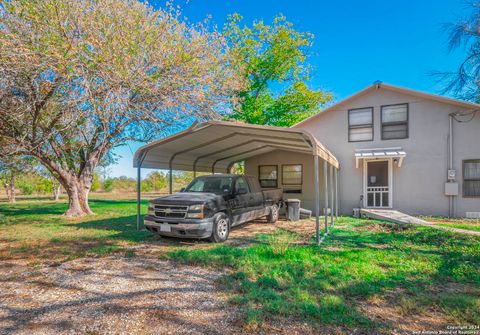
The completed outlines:
{"type": "Polygon", "coordinates": [[[221,34],[136,0],[0,0],[0,138],[92,211],[95,167],[128,140],[218,117],[242,83],[221,34]]]}

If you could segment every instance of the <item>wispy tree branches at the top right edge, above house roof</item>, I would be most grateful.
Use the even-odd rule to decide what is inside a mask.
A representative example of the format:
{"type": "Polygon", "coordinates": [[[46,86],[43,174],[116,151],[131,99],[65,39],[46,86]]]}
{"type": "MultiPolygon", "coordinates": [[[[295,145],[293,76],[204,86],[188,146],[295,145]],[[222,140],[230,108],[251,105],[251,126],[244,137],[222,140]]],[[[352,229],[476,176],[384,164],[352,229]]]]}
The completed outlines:
{"type": "Polygon", "coordinates": [[[465,58],[457,71],[441,73],[446,91],[460,98],[480,102],[480,2],[472,2],[471,13],[447,24],[448,47],[463,49],[465,58]]]}

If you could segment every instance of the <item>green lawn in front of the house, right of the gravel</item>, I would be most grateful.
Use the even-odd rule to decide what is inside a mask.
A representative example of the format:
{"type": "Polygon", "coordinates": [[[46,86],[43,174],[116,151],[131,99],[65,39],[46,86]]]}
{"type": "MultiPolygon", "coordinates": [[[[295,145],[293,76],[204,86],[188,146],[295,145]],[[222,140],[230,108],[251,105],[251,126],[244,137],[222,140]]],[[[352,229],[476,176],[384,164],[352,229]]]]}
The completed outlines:
{"type": "Polygon", "coordinates": [[[230,269],[222,285],[253,328],[291,317],[367,333],[388,328],[359,307],[369,299],[380,299],[400,314],[433,311],[455,324],[480,324],[478,237],[422,227],[380,225],[387,228],[378,230],[372,229],[379,226],[375,221],[352,218],[338,223],[320,247],[291,245],[285,250],[282,235],[289,233],[281,232],[246,248],[181,248],[167,257],[230,269]]]}

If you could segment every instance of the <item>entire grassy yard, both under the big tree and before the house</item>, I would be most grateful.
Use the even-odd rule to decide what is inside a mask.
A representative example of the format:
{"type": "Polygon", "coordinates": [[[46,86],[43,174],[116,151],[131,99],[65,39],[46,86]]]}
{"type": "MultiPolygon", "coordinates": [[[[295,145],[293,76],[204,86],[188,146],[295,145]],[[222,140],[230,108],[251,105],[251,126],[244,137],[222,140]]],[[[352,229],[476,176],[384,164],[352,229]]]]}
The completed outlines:
{"type": "Polygon", "coordinates": [[[80,219],[61,216],[65,201],[0,203],[0,262],[140,258],[142,247],[179,267],[218,271],[218,289],[248,331],[293,321],[332,334],[480,324],[480,237],[341,217],[320,247],[307,221],[252,224],[225,244],[185,243],[137,231],[132,194],[109,196],[93,195],[96,215],[80,219]]]}

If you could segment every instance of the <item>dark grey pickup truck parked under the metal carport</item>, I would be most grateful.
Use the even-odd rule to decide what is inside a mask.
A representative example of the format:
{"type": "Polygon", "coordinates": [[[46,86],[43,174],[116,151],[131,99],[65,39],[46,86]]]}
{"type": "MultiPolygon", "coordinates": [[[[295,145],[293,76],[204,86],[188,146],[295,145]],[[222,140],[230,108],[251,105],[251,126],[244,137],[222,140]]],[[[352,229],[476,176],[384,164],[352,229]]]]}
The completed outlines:
{"type": "Polygon", "coordinates": [[[282,196],[278,188],[262,190],[254,177],[202,176],[179,193],[150,201],[144,223],[159,235],[223,242],[233,226],[261,217],[275,223],[282,196]]]}

